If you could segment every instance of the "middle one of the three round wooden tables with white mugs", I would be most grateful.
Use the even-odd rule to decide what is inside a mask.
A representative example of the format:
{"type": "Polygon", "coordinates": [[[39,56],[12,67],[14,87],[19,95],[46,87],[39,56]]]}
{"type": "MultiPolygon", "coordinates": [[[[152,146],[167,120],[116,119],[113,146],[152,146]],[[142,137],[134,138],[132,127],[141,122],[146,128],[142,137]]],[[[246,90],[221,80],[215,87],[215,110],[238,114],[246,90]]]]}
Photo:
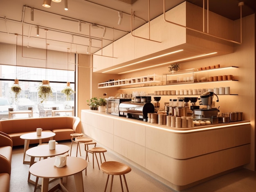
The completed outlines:
{"type": "MultiPolygon", "coordinates": [[[[70,150],[69,146],[57,144],[54,150],[49,150],[49,145],[40,145],[33,148],[30,148],[26,151],[26,154],[30,156],[30,166],[31,167],[35,163],[35,157],[42,157],[46,159],[47,157],[54,157],[59,154],[64,154],[70,150]]],[[[30,179],[30,172],[27,182],[33,183],[37,185],[37,181],[34,182],[30,179]]]]}

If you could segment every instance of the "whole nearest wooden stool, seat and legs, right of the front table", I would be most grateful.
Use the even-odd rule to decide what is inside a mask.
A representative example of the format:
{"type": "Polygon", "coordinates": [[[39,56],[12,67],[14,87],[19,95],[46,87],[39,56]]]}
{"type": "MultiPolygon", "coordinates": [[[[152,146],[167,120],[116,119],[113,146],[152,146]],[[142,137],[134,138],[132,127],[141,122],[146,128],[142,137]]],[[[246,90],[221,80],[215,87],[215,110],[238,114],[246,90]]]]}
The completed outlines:
{"type": "MultiPolygon", "coordinates": [[[[125,179],[125,174],[132,170],[129,166],[127,166],[123,163],[119,163],[117,161],[106,161],[106,162],[101,164],[101,170],[103,171],[103,173],[108,174],[108,179],[109,179],[109,175],[112,175],[111,185],[110,185],[110,192],[112,191],[112,184],[113,184],[114,175],[119,175],[119,177],[120,177],[122,192],[124,192],[124,189],[123,189],[121,175],[124,176],[124,183],[126,185],[126,190],[127,190],[127,192],[129,192],[128,187],[127,187],[127,183],[126,183],[126,179],[125,179]]],[[[104,192],[106,192],[106,190],[107,190],[108,179],[107,179],[107,183],[106,183],[106,187],[105,187],[104,192]]]]}

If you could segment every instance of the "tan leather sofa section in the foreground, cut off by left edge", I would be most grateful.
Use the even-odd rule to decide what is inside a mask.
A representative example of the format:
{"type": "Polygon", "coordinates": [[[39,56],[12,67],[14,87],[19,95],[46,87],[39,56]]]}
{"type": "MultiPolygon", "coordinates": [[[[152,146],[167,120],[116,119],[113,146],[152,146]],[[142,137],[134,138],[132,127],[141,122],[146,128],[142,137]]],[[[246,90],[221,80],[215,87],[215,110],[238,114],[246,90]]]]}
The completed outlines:
{"type": "Polygon", "coordinates": [[[12,140],[0,132],[0,191],[9,192],[11,176],[12,140]]]}

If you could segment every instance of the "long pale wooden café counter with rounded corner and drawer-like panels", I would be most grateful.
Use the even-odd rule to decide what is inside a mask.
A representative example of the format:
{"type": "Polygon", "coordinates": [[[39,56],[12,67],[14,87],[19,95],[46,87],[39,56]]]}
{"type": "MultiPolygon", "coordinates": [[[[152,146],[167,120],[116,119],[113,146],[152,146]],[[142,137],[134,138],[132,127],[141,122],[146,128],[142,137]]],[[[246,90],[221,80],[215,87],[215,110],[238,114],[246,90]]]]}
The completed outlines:
{"type": "Polygon", "coordinates": [[[250,162],[249,121],[185,129],[82,110],[81,122],[85,135],[178,191],[250,162]]]}

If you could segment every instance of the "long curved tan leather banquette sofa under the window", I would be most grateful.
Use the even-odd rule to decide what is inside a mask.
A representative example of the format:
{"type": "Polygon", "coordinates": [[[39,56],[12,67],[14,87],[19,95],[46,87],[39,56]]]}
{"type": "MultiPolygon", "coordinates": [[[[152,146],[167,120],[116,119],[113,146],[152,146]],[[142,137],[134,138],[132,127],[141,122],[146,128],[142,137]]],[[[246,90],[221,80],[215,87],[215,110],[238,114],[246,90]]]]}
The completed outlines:
{"type": "MultiPolygon", "coordinates": [[[[81,133],[81,121],[79,117],[40,117],[26,119],[7,119],[0,121],[0,131],[8,134],[13,142],[13,146],[24,145],[24,140],[20,135],[29,132],[35,132],[36,128],[42,128],[43,131],[52,131],[56,133],[56,141],[71,139],[71,133],[81,133]]],[[[42,142],[48,142],[45,139],[42,142]]],[[[30,144],[38,143],[38,140],[31,140],[30,144]]]]}

